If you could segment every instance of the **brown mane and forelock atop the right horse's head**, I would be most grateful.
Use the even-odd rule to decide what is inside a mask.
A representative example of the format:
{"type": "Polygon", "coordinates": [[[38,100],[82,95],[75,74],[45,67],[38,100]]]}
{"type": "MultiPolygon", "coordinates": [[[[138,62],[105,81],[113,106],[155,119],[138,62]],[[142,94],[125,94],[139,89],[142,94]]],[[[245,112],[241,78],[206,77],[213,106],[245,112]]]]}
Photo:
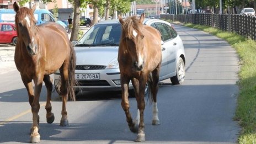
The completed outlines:
{"type": "Polygon", "coordinates": [[[129,38],[132,39],[134,37],[133,31],[136,30],[137,33],[141,33],[141,25],[138,22],[138,17],[135,15],[132,17],[128,17],[125,19],[124,24],[122,25],[122,38],[129,38]]]}

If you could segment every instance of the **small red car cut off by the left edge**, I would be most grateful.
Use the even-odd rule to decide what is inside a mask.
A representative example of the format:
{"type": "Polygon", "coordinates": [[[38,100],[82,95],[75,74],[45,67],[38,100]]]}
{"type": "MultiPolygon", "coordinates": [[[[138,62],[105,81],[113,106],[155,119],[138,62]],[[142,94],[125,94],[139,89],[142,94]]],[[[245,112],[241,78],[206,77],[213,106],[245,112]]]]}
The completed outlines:
{"type": "Polygon", "coordinates": [[[0,23],[0,44],[17,44],[18,37],[14,23],[0,23]]]}

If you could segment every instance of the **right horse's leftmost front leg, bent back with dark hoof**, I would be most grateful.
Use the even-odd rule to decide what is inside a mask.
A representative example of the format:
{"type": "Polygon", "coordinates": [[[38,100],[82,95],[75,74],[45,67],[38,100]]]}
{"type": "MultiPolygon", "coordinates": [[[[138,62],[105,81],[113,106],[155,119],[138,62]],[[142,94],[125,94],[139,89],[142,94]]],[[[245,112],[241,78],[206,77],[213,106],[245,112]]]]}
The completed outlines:
{"type": "Polygon", "coordinates": [[[129,111],[130,109],[129,100],[128,100],[129,82],[130,82],[130,79],[125,76],[122,76],[121,74],[121,89],[122,89],[121,105],[122,105],[122,109],[125,111],[126,121],[129,125],[129,129],[131,130],[131,132],[137,133],[138,132],[137,126],[135,125],[135,122],[132,121],[132,116],[129,111]]]}

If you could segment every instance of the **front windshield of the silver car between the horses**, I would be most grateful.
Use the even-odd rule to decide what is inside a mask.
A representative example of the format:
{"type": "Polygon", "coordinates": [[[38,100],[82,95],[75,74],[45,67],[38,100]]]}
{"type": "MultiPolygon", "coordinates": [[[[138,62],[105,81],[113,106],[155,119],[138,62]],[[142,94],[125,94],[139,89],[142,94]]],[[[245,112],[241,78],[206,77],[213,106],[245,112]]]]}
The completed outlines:
{"type": "Polygon", "coordinates": [[[77,46],[118,46],[121,24],[94,25],[77,42],[77,46]]]}

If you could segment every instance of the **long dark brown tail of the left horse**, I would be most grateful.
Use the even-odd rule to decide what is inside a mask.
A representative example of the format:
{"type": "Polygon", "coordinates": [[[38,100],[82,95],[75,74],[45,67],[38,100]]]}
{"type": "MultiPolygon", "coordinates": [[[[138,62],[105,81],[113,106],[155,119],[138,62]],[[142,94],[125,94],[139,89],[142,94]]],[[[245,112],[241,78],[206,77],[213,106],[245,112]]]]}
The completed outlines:
{"type": "Polygon", "coordinates": [[[74,77],[74,70],[76,69],[76,53],[74,47],[70,42],[70,62],[68,64],[68,82],[67,92],[70,100],[76,100],[76,94],[74,93],[74,86],[78,85],[76,78],[74,77]]]}

